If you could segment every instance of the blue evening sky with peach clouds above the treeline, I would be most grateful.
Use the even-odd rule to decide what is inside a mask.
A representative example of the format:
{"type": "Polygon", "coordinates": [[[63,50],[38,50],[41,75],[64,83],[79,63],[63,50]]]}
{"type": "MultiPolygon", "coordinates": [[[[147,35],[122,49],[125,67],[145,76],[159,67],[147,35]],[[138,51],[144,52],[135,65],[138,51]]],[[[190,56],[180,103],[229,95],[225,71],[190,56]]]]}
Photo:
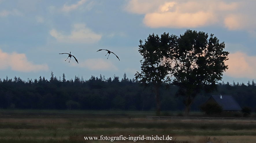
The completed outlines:
{"type": "MultiPolygon", "coordinates": [[[[223,82],[256,80],[254,0],[0,0],[0,78],[129,79],[139,41],[187,29],[214,34],[229,52],[223,82]],[[114,52],[107,59],[108,49],[114,52]],[[70,63],[65,59],[69,53],[70,63]]],[[[222,82],[220,81],[220,82],[222,82]]]]}

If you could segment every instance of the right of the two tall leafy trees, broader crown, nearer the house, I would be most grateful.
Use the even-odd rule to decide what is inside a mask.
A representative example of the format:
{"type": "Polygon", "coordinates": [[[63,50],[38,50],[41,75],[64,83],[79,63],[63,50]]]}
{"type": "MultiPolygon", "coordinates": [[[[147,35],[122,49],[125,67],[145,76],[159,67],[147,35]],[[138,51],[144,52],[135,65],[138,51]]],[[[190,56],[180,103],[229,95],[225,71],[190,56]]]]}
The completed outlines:
{"type": "Polygon", "coordinates": [[[222,79],[229,54],[224,48],[224,42],[219,43],[213,34],[208,38],[204,32],[187,30],[178,38],[173,84],[179,86],[177,95],[184,97],[185,116],[189,115],[195,96],[202,90],[215,89],[222,79]]]}

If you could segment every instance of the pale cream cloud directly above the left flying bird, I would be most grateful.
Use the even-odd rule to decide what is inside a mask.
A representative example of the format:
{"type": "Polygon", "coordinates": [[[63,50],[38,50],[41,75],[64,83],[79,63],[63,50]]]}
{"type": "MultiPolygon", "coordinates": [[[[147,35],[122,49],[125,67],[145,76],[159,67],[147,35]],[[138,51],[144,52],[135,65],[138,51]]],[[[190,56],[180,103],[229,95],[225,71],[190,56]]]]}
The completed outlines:
{"type": "Polygon", "coordinates": [[[101,39],[101,34],[96,34],[91,29],[86,28],[85,24],[74,24],[71,34],[66,36],[63,32],[58,32],[55,29],[50,31],[51,36],[55,37],[58,42],[79,42],[79,43],[94,43],[101,39]]]}

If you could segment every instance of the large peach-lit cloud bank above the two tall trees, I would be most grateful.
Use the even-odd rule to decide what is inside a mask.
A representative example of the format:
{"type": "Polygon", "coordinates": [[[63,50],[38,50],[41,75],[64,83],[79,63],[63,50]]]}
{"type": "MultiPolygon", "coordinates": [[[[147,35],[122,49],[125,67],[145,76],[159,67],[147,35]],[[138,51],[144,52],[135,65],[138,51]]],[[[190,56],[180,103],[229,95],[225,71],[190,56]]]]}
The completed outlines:
{"type": "Polygon", "coordinates": [[[144,14],[151,28],[195,28],[217,25],[229,30],[256,29],[256,1],[129,0],[126,11],[144,14]]]}

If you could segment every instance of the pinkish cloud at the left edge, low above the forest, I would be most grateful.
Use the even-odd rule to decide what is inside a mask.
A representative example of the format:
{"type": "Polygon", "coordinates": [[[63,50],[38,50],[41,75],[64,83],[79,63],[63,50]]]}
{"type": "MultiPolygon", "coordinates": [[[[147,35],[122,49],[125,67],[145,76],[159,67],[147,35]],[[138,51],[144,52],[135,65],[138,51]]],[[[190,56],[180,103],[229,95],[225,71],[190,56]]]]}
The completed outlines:
{"type": "Polygon", "coordinates": [[[48,65],[34,65],[32,62],[27,61],[25,54],[12,54],[3,53],[0,49],[0,69],[8,69],[11,67],[13,71],[47,71],[48,65]]]}

